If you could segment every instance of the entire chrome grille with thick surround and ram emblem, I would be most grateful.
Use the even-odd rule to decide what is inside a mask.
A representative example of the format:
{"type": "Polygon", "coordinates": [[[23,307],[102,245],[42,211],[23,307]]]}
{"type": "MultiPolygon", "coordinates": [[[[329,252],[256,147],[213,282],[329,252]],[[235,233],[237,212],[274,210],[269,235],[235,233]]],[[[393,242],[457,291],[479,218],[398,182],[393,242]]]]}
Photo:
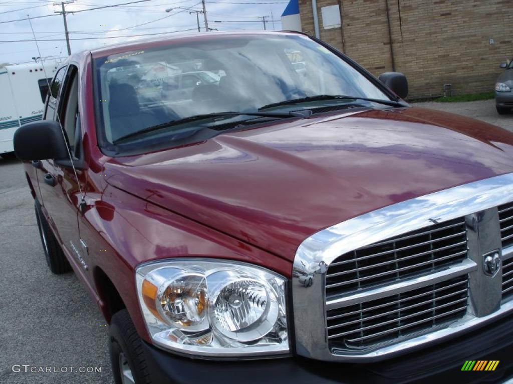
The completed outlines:
{"type": "Polygon", "coordinates": [[[298,354],[378,361],[513,313],[512,200],[509,173],[391,204],[306,238],[291,283],[298,354]],[[502,273],[488,276],[484,257],[501,243],[502,273]]]}

